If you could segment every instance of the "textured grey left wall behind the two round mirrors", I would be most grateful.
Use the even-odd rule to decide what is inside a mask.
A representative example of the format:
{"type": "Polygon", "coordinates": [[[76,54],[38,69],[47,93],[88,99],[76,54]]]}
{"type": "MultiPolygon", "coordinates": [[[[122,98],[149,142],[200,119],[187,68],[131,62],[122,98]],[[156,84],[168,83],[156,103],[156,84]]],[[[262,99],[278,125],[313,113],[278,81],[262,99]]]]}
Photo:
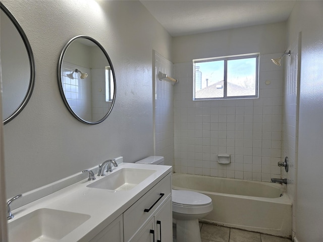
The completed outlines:
{"type": "Polygon", "coordinates": [[[7,197],[105,159],[153,155],[152,50],[170,58],[171,37],[138,1],[2,1],[24,29],[35,57],[35,88],[4,127],[7,197]],[[80,123],[57,83],[64,45],[88,35],[103,45],[116,72],[117,98],[101,124],[80,123]]]}

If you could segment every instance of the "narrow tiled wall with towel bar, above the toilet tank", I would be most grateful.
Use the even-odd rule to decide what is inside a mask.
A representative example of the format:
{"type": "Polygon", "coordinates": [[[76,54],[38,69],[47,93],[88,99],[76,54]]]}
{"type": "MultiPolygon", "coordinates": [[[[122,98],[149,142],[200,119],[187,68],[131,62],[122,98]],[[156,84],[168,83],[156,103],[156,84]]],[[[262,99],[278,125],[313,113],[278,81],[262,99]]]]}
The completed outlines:
{"type": "MultiPolygon", "coordinates": [[[[173,77],[173,63],[154,52],[154,155],[164,156],[166,165],[174,160],[174,85],[158,79],[159,71],[173,77]]],[[[177,85],[177,84],[176,84],[177,85]]]]}

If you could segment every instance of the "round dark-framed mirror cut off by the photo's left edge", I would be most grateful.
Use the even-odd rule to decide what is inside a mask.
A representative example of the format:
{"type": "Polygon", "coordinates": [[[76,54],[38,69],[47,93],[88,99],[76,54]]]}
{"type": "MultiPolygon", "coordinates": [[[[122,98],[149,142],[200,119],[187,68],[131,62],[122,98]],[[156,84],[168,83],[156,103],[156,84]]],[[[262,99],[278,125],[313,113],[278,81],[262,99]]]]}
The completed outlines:
{"type": "Polygon", "coordinates": [[[16,117],[30,99],[35,79],[34,57],[21,26],[0,3],[3,123],[16,117]]]}

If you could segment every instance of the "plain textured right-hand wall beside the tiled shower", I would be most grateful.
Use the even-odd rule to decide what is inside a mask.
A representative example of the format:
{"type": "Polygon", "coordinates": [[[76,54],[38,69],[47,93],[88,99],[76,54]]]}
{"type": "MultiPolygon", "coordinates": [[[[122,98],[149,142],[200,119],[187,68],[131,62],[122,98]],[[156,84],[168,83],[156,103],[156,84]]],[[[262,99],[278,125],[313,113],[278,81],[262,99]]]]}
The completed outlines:
{"type": "Polygon", "coordinates": [[[288,44],[301,31],[296,238],[323,241],[323,2],[296,1],[288,44]]]}

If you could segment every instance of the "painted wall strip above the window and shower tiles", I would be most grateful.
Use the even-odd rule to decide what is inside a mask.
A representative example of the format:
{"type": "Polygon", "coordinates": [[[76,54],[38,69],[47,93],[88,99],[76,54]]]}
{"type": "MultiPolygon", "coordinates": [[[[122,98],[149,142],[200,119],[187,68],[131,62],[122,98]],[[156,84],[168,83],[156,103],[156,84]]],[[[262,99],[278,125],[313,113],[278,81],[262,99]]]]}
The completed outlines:
{"type": "Polygon", "coordinates": [[[173,38],[174,64],[235,54],[283,52],[286,24],[265,24],[173,38]]]}

